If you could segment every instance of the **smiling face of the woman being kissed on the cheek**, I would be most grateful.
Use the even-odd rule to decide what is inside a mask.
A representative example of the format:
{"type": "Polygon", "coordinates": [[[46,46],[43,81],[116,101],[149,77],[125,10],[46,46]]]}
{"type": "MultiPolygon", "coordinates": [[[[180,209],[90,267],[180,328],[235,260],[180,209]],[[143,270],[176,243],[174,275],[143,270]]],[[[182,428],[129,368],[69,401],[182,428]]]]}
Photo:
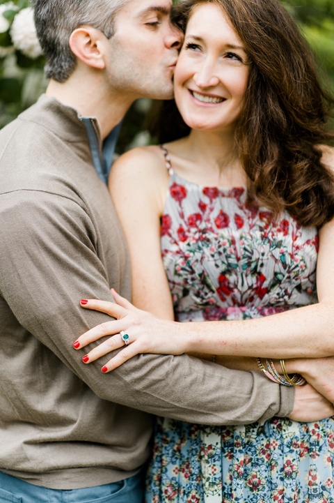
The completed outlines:
{"type": "Polygon", "coordinates": [[[247,54],[225,13],[200,3],[189,17],[174,75],[175,101],[186,124],[234,130],[248,74],[247,54]]]}

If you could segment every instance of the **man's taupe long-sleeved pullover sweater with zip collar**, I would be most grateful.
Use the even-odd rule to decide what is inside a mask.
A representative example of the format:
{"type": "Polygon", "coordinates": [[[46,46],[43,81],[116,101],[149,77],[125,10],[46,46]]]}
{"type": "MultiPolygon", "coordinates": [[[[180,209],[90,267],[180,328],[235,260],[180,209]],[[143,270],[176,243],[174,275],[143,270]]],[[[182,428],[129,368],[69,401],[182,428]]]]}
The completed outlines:
{"type": "MultiPolygon", "coordinates": [[[[92,123],[98,130],[94,119],[92,123]]],[[[129,264],[77,112],[42,96],[0,132],[0,470],[56,489],[97,486],[147,460],[152,416],[250,423],[294,391],[189,356],[136,356],[104,375],[72,343],[129,298],[129,264]]],[[[96,344],[96,343],[95,343],[96,344]]]]}

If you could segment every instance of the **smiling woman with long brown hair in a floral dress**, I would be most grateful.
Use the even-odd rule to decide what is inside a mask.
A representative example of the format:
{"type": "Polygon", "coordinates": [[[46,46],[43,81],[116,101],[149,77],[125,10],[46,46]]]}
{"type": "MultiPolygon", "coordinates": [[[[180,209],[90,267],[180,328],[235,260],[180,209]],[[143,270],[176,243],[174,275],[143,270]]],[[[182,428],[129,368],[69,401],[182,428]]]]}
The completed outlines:
{"type": "MultiPolygon", "coordinates": [[[[175,22],[175,101],[189,134],[130,151],[110,179],[134,304],[165,320],[117,294],[121,307],[86,301],[118,320],[76,345],[115,334],[89,363],[126,333],[104,373],[140,353],[195,352],[296,396],[308,389],[301,373],[333,403],[333,98],[276,0],[184,0],[175,22]]],[[[333,418],[216,428],[158,419],[147,502],[333,500],[333,428],[333,418]]]]}

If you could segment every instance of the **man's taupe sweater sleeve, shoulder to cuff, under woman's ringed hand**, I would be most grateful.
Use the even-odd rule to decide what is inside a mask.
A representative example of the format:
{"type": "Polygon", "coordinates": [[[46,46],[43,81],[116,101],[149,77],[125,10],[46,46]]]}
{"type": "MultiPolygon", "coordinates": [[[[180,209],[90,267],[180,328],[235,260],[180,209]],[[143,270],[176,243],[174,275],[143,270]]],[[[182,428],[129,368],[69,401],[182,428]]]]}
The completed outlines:
{"type": "Polygon", "coordinates": [[[2,296],[19,323],[97,396],[212,425],[264,421],[292,411],[292,388],[186,355],[138,355],[106,375],[100,361],[84,365],[72,343],[110,318],[82,309],[79,299],[112,300],[88,212],[60,195],[17,191],[1,195],[0,216],[2,296]]]}

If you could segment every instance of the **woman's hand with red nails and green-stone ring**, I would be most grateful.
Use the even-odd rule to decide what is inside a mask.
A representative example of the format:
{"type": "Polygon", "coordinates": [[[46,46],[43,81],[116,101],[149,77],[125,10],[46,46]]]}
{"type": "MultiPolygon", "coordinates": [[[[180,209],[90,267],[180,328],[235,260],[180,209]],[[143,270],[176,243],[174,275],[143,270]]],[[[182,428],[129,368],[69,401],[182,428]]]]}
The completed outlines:
{"type": "Polygon", "coordinates": [[[146,311],[135,308],[115,290],[112,290],[112,293],[116,303],[94,299],[85,300],[84,303],[81,301],[83,308],[95,309],[116,318],[116,320],[95,326],[75,341],[74,348],[79,350],[94,340],[112,336],[86,354],[83,357],[84,363],[95,361],[123,347],[122,351],[104,365],[103,372],[109,372],[136,354],[182,354],[189,350],[186,344],[189,341],[189,333],[184,330],[184,324],[161,320],[146,311]],[[121,331],[129,336],[127,345],[120,336],[121,331]]]}

